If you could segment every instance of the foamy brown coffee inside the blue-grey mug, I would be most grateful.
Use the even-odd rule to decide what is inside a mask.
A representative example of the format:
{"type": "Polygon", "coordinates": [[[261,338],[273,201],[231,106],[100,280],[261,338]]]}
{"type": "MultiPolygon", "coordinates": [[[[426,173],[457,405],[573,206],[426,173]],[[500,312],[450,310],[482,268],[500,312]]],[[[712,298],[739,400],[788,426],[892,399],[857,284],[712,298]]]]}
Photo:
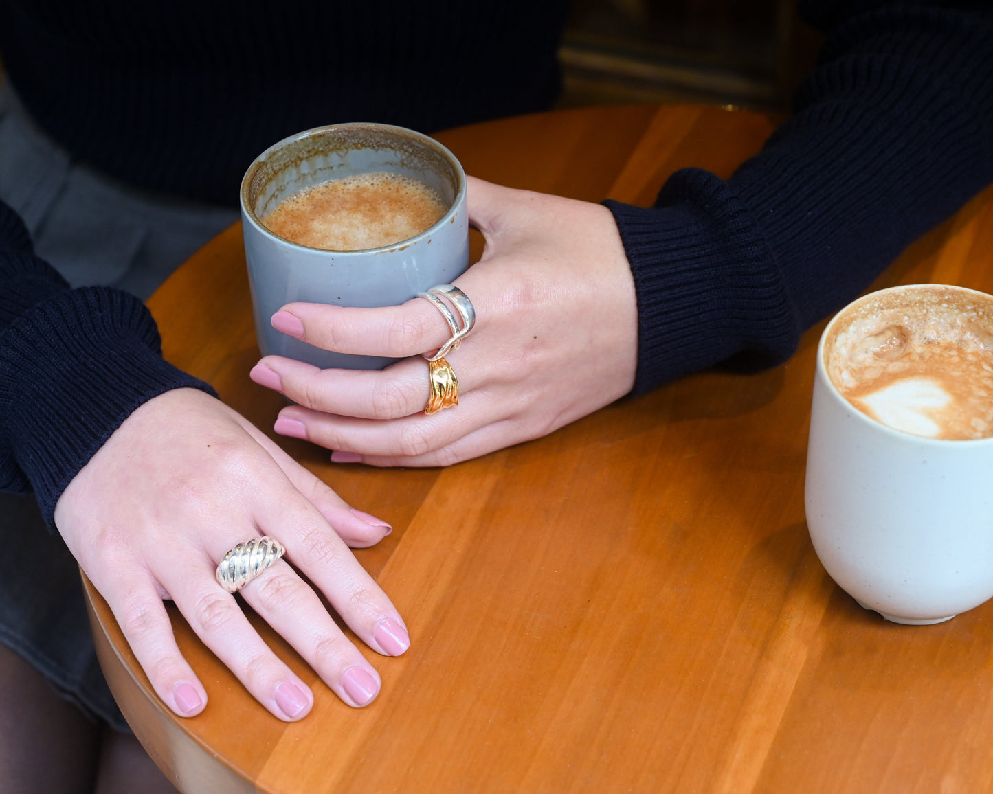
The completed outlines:
{"type": "Polygon", "coordinates": [[[300,245],[362,251],[416,237],[446,211],[427,185],[380,171],[305,188],[280,201],[261,221],[300,245]]]}

